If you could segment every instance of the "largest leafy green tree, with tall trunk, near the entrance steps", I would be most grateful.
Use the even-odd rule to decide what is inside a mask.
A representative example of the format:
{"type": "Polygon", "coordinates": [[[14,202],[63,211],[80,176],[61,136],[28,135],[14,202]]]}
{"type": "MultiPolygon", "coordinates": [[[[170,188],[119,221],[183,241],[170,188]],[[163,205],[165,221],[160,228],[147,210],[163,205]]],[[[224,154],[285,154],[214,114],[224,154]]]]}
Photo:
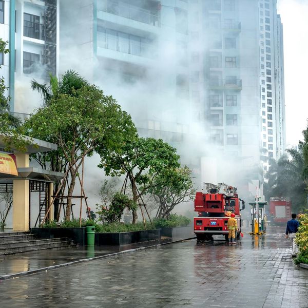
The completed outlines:
{"type": "Polygon", "coordinates": [[[57,143],[59,156],[65,160],[70,176],[65,220],[70,220],[71,197],[85,157],[91,156],[98,145],[112,147],[124,137],[136,134],[130,116],[111,96],[105,96],[93,85],[52,95],[48,104],[38,108],[26,122],[25,128],[33,138],[57,143]]]}

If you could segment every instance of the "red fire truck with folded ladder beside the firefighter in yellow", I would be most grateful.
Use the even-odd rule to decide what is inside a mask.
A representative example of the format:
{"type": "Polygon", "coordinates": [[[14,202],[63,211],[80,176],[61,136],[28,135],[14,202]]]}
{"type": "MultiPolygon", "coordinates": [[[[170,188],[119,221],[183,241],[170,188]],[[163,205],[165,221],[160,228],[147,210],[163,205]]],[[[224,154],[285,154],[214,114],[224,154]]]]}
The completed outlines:
{"type": "Polygon", "coordinates": [[[227,241],[227,223],[232,213],[238,222],[237,238],[240,238],[242,226],[240,211],[245,208],[245,202],[238,197],[237,188],[225,183],[218,185],[204,183],[202,190],[196,192],[195,198],[195,211],[198,212],[198,217],[194,218],[194,232],[197,240],[212,240],[213,235],[224,235],[227,241]]]}

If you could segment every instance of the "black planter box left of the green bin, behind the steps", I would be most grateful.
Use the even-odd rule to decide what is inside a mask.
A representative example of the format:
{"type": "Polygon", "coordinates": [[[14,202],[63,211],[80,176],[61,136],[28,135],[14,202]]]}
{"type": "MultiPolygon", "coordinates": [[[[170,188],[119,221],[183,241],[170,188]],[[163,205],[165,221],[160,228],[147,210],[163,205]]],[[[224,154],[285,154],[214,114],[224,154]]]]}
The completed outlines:
{"type": "Polygon", "coordinates": [[[75,244],[87,244],[86,228],[31,228],[31,233],[36,234],[39,238],[67,237],[72,239],[75,244]]]}

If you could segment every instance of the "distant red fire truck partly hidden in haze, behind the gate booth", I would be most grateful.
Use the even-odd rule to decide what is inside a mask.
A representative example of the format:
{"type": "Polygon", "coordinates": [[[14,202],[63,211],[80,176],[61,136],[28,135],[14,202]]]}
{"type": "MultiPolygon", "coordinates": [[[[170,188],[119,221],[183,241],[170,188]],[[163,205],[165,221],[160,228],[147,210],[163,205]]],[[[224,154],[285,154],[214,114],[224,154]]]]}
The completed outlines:
{"type": "Polygon", "coordinates": [[[284,225],[291,219],[291,199],[288,197],[269,198],[269,223],[284,225]]]}

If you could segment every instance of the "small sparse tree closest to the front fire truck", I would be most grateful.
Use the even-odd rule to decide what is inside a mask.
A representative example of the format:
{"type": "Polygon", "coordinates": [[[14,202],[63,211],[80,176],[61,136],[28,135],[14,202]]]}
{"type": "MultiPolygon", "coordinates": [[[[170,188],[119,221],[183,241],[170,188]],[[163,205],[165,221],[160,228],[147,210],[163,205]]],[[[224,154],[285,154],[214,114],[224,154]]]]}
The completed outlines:
{"type": "Polygon", "coordinates": [[[191,170],[187,166],[170,169],[159,175],[155,184],[149,192],[159,200],[157,218],[169,219],[176,205],[193,200],[196,194],[191,170]]]}

